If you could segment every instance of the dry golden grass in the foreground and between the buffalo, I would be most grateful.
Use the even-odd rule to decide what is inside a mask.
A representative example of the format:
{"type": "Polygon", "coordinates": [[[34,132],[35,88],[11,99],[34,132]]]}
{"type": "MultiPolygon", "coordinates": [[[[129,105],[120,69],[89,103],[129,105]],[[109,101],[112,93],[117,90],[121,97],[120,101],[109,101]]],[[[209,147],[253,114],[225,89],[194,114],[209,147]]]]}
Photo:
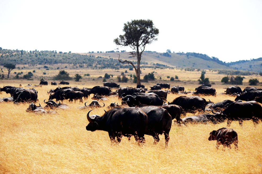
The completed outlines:
{"type": "MultiPolygon", "coordinates": [[[[2,80],[0,86],[19,86],[20,83],[24,87],[30,82],[2,80]]],[[[70,82],[70,85],[92,87],[102,85],[102,82],[99,84],[93,81],[70,82]],[[82,83],[85,85],[81,85],[82,83]]],[[[124,83],[123,86],[125,85],[132,86],[131,83],[124,83]]],[[[183,86],[192,91],[198,85],[187,82],[183,86]]],[[[223,92],[224,87],[214,85],[218,93],[223,92]]],[[[48,99],[46,91],[51,88],[54,86],[36,88],[41,106],[44,106],[43,100],[48,99]]],[[[1,98],[9,96],[5,92],[0,94],[1,98]]],[[[178,96],[169,94],[168,100],[171,101],[178,96]]],[[[214,102],[234,100],[234,97],[223,94],[217,94],[217,97],[203,97],[214,102]]],[[[88,98],[88,103],[91,100],[91,97],[88,98]]],[[[121,103],[117,97],[110,97],[109,101],[104,103],[108,106],[115,101],[121,103]]],[[[262,171],[261,121],[256,127],[252,121],[244,121],[243,127],[240,127],[238,122],[231,124],[230,128],[238,133],[238,151],[234,150],[233,145],[231,150],[223,150],[222,146],[216,150],[216,142],[208,141],[209,133],[226,127],[226,122],[217,125],[198,124],[181,127],[173,122],[167,148],[163,135],[160,136],[157,145],[153,145],[153,138],[147,135],[143,147],[139,147],[134,138],[128,142],[125,137],[119,145],[111,145],[107,132],[86,131],[88,110],[77,109],[84,104],[79,101],[64,103],[68,104],[70,109],[57,110],[58,115],[27,113],[25,109],[29,104],[0,103],[0,173],[261,173],[262,171]]],[[[103,109],[94,109],[92,114],[102,115],[103,109]]]]}

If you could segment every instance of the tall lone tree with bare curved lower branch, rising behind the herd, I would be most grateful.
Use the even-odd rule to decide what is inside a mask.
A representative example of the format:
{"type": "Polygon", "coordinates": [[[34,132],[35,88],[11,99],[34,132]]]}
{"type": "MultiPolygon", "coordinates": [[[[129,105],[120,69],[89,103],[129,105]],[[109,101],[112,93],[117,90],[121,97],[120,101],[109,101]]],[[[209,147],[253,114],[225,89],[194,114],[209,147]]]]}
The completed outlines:
{"type": "Polygon", "coordinates": [[[132,63],[132,61],[124,60],[121,61],[120,54],[118,60],[121,63],[131,64],[137,75],[137,85],[141,85],[140,82],[140,60],[141,55],[145,50],[146,44],[150,44],[153,41],[156,41],[156,36],[159,33],[159,30],[154,27],[152,20],[132,20],[124,24],[123,31],[124,35],[119,35],[118,38],[114,39],[114,43],[119,46],[129,46],[132,48],[133,52],[129,52],[132,57],[137,57],[137,67],[132,63]]]}

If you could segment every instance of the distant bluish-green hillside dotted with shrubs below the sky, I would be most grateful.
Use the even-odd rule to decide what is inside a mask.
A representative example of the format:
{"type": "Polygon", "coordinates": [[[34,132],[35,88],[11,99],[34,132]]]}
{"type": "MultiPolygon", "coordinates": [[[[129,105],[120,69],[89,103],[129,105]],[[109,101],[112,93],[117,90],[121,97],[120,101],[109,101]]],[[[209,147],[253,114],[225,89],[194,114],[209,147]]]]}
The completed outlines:
{"type": "MultiPolygon", "coordinates": [[[[7,63],[20,65],[53,65],[70,64],[73,68],[95,68],[95,69],[118,69],[130,68],[129,64],[122,64],[117,59],[130,60],[136,64],[128,52],[106,52],[106,53],[63,53],[56,51],[24,51],[9,50],[0,47],[0,65],[7,63]]],[[[260,72],[262,58],[252,60],[241,60],[225,63],[218,58],[210,58],[206,54],[199,53],[157,53],[145,51],[142,54],[141,68],[182,68],[194,69],[224,69],[260,72]]]]}

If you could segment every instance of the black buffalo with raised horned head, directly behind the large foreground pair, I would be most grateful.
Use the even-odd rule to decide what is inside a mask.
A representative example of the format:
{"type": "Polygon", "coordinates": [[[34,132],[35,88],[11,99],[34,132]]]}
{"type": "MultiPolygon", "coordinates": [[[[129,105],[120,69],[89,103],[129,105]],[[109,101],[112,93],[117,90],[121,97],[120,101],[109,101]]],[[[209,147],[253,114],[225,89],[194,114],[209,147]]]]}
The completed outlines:
{"type": "Polygon", "coordinates": [[[129,107],[138,106],[140,104],[157,106],[157,105],[162,105],[164,102],[162,97],[159,97],[157,94],[150,95],[150,96],[142,96],[134,93],[134,96],[132,95],[127,95],[125,97],[122,96],[122,100],[125,101],[129,107]]]}

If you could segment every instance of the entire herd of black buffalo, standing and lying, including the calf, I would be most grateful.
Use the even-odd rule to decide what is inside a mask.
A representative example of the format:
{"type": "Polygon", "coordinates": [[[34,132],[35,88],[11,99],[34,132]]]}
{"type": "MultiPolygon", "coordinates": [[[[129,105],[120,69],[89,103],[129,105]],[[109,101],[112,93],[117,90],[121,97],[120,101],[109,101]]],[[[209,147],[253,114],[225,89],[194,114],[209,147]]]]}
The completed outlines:
{"type": "MultiPolygon", "coordinates": [[[[59,84],[68,85],[68,82],[61,81],[59,84]]],[[[40,85],[48,85],[47,81],[41,81],[40,85]]],[[[51,85],[57,85],[56,82],[51,82],[51,85]]],[[[31,87],[28,86],[28,87],[31,87]]],[[[238,86],[228,87],[225,91],[226,95],[236,96],[235,101],[224,100],[213,103],[210,100],[200,97],[199,95],[216,96],[216,90],[210,84],[202,84],[195,88],[192,92],[193,96],[179,96],[173,101],[167,101],[168,93],[187,94],[183,86],[170,86],[168,83],[157,83],[150,86],[150,90],[144,85],[133,87],[121,87],[120,84],[114,82],[105,82],[103,86],[94,86],[92,88],[78,87],[60,87],[50,89],[48,93],[48,101],[44,100],[46,106],[43,108],[39,104],[37,106],[38,91],[35,88],[22,88],[14,86],[0,87],[0,91],[10,94],[10,97],[0,98],[1,102],[13,102],[15,104],[29,102],[27,112],[36,114],[57,114],[52,109],[68,109],[69,106],[63,104],[63,100],[69,99],[80,100],[83,103],[83,98],[87,99],[90,94],[94,94],[94,99],[89,105],[84,103],[78,109],[88,109],[87,119],[89,124],[86,130],[95,131],[103,130],[108,132],[111,142],[121,142],[122,136],[134,136],[138,144],[145,143],[144,135],[150,135],[154,138],[154,144],[159,142],[159,134],[164,134],[165,144],[168,145],[169,132],[173,119],[176,119],[176,124],[181,126],[188,123],[201,124],[218,124],[227,120],[229,127],[232,121],[238,121],[242,126],[243,120],[252,120],[256,126],[259,120],[262,121],[261,103],[262,89],[255,87],[246,87],[243,91],[238,86]],[[113,91],[112,88],[116,88],[113,91]],[[163,90],[163,88],[167,90],[163,90]],[[171,91],[169,91],[171,89],[171,91]],[[107,97],[118,96],[122,100],[121,105],[116,102],[111,103],[106,107],[107,111],[100,115],[90,115],[92,109],[103,108],[105,103],[101,101],[108,100],[107,97]],[[56,102],[53,100],[56,99],[56,102]],[[97,99],[97,100],[96,100],[97,99]],[[243,102],[242,100],[246,101],[243,102]],[[59,103],[57,103],[59,101],[59,103]],[[60,102],[61,101],[61,102],[60,102]],[[103,103],[103,105],[99,104],[103,103]],[[167,103],[166,103],[167,102],[167,103]],[[48,109],[48,111],[46,111],[48,109]],[[49,110],[51,109],[51,110],[49,110]],[[186,113],[197,113],[199,115],[180,118],[180,115],[186,113]],[[208,113],[212,112],[212,113],[208,113]]],[[[190,91],[191,93],[191,91],[190,91]]],[[[230,147],[234,144],[237,148],[238,137],[233,129],[221,128],[210,132],[209,141],[216,140],[217,145],[230,147]]]]}

